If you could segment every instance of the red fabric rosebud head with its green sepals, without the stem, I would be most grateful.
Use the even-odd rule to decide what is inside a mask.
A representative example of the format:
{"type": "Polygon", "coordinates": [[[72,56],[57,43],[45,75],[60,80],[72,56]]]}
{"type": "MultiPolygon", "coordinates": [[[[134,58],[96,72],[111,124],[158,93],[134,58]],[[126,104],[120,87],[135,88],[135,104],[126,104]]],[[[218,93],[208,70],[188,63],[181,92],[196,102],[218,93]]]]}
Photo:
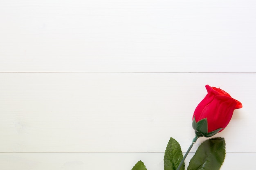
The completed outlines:
{"type": "Polygon", "coordinates": [[[208,94],[195,108],[193,128],[198,137],[211,137],[222,131],[242,104],[220,88],[205,86],[208,94]]]}

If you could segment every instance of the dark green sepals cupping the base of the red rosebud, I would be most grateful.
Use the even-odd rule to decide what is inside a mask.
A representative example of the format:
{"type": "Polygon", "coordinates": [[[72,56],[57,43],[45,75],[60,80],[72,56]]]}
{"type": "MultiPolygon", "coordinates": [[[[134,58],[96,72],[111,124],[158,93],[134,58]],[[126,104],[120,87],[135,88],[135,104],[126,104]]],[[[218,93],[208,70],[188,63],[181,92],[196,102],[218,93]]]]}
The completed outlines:
{"type": "Polygon", "coordinates": [[[193,118],[192,127],[195,130],[195,135],[197,137],[212,137],[216,133],[218,133],[222,128],[213,130],[208,132],[208,123],[207,118],[201,119],[200,121],[196,122],[195,117],[193,118]]]}

